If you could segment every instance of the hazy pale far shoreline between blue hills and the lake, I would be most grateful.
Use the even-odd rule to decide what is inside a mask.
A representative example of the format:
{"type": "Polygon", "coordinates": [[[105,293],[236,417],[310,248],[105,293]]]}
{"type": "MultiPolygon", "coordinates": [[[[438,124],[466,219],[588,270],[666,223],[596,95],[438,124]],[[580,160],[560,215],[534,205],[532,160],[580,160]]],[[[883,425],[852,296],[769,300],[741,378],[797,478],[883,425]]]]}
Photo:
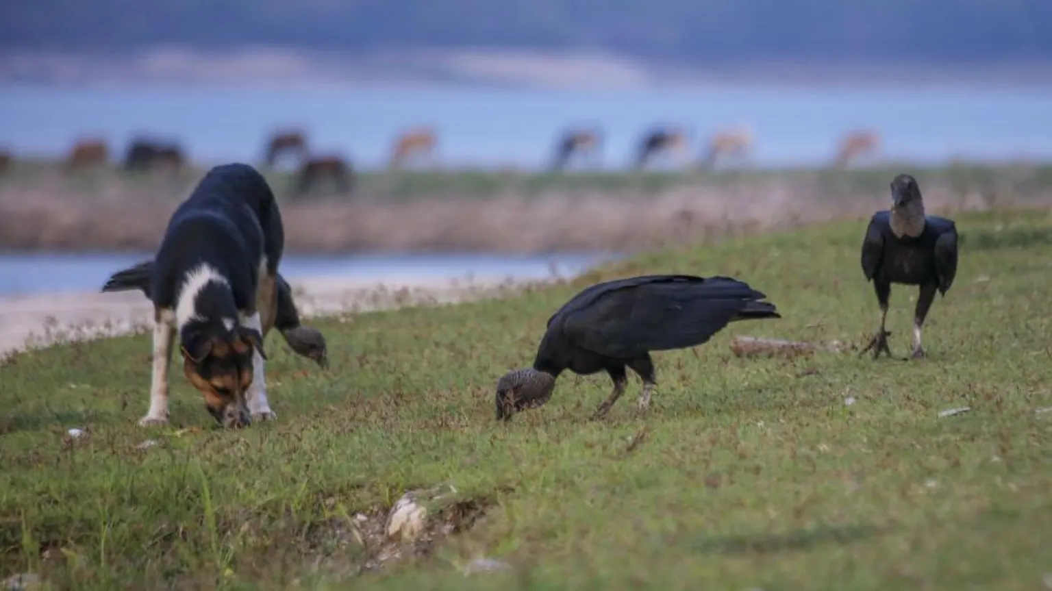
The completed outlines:
{"type": "Polygon", "coordinates": [[[284,47],[228,52],[162,46],[129,54],[6,52],[0,84],[473,85],[610,89],[713,85],[1052,86],[1052,63],[959,67],[911,63],[684,65],[604,53],[434,49],[337,54],[284,47]]]}

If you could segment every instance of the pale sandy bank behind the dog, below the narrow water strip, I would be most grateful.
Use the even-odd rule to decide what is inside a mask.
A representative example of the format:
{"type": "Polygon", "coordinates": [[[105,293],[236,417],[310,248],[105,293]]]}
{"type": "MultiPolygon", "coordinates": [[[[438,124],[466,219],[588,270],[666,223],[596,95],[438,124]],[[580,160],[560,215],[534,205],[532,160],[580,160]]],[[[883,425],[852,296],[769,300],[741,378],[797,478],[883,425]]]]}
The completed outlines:
{"type": "MultiPolygon", "coordinates": [[[[289,280],[304,319],[413,304],[492,297],[523,282],[507,278],[384,277],[289,280]]],[[[26,347],[116,337],[148,328],[153,308],[139,291],[68,292],[0,298],[0,359],[26,347]]]]}

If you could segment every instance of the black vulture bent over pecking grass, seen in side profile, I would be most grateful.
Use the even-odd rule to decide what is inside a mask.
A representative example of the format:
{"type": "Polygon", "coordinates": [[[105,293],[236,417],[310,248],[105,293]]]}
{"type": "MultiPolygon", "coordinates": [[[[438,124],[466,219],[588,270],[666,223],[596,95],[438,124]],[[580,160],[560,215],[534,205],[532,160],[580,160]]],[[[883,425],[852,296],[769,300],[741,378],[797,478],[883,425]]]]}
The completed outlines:
{"type": "Polygon", "coordinates": [[[640,408],[656,386],[650,351],[705,343],[737,320],[782,318],[764,293],[729,277],[642,276],[586,288],[550,319],[533,366],[497,383],[497,419],[548,402],[563,370],[580,375],[606,371],[613,392],[595,410],[605,414],[625,391],[625,367],[643,379],[640,408]]]}

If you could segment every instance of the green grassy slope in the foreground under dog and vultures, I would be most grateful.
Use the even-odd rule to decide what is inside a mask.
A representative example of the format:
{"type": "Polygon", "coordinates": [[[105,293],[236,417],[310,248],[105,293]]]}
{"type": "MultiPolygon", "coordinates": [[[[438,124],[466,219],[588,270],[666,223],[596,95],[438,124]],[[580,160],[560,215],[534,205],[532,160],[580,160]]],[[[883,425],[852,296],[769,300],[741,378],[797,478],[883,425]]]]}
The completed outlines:
{"type": "MultiPolygon", "coordinates": [[[[1052,406],[1052,216],[957,221],[959,272],[933,306],[922,362],[729,351],[734,334],[858,343],[875,329],[858,221],[653,252],[505,300],[318,321],[331,368],[271,337],[279,421],[237,432],[214,429],[181,378],[171,425],[136,425],[147,335],[16,356],[0,368],[0,574],[66,589],[345,588],[340,577],[381,551],[365,531],[376,515],[407,489],[450,484],[434,514],[458,532],[343,585],[1040,589],[1052,576],[1052,412],[1039,412],[1052,406]],[[655,353],[644,415],[633,379],[588,422],[609,381],[567,374],[546,407],[495,424],[497,379],[531,362],[567,297],[659,271],[739,277],[784,318],[655,353]],[[64,442],[72,427],[90,435],[64,442]],[[160,445],[137,449],[147,439],[160,445]],[[510,568],[461,572],[482,556],[510,568]]],[[[892,292],[898,355],[914,294],[892,292]]]]}

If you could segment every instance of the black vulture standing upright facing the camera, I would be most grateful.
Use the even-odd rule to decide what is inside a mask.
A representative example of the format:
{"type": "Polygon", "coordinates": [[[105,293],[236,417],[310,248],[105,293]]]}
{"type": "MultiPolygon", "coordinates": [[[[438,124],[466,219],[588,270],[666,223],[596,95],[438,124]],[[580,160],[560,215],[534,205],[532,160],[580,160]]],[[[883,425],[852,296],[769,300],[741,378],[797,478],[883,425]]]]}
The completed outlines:
{"type": "Polygon", "coordinates": [[[909,175],[898,175],[891,181],[891,199],[890,210],[873,213],[862,243],[862,270],[866,281],[873,282],[881,304],[881,329],[862,353],[872,350],[876,359],[883,351],[891,356],[888,348],[891,333],[885,329],[885,323],[891,284],[898,283],[920,286],[913,312],[910,356],[923,359],[920,332],[935,300],[935,290],[945,298],[957,274],[957,226],[947,218],[925,216],[920,187],[909,175]]]}

